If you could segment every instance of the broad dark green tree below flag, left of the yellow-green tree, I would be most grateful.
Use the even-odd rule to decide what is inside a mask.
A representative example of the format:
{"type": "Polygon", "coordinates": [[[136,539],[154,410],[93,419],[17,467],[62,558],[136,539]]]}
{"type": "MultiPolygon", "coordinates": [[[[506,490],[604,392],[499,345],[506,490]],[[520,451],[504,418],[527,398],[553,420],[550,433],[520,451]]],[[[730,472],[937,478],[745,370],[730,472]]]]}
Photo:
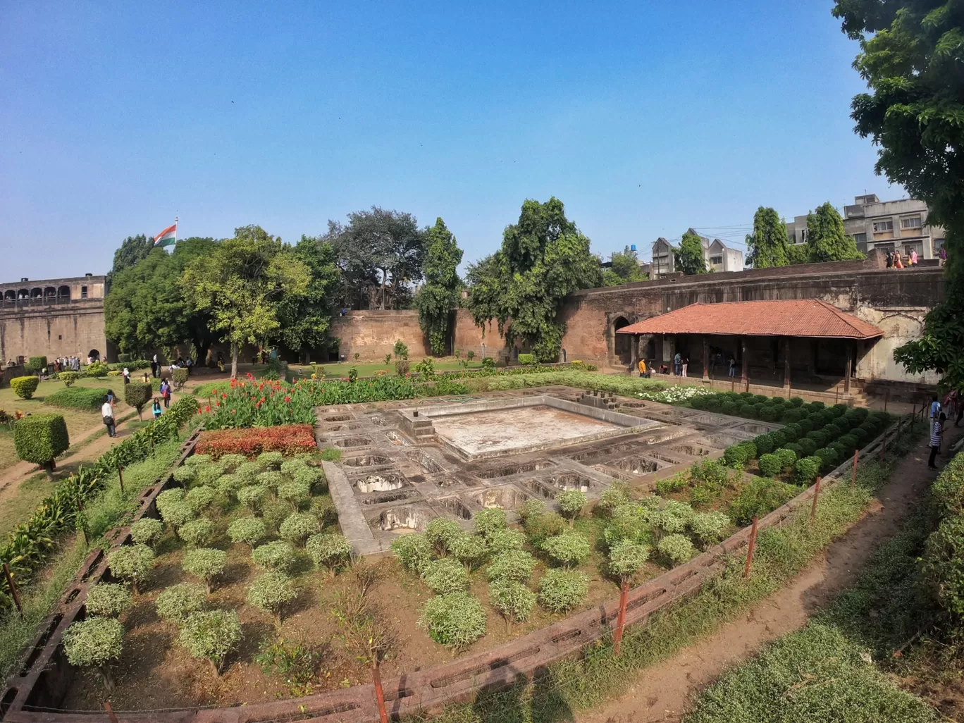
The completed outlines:
{"type": "Polygon", "coordinates": [[[216,243],[211,238],[187,238],[177,242],[173,254],[154,249],[121,270],[104,299],[107,338],[121,352],[140,356],[190,341],[203,362],[214,338],[211,317],[184,295],[180,280],[187,265],[212,253],[216,243]]]}

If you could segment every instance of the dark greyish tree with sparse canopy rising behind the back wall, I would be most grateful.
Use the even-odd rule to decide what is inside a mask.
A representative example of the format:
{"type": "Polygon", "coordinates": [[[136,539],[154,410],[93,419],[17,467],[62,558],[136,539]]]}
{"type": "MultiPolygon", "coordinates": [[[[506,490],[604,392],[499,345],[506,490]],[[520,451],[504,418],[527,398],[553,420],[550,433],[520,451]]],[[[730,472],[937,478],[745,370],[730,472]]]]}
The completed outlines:
{"type": "Polygon", "coordinates": [[[422,278],[424,239],[411,213],[372,206],[348,214],[348,225],[328,222],[323,240],[335,248],[346,306],[405,308],[422,278]]]}

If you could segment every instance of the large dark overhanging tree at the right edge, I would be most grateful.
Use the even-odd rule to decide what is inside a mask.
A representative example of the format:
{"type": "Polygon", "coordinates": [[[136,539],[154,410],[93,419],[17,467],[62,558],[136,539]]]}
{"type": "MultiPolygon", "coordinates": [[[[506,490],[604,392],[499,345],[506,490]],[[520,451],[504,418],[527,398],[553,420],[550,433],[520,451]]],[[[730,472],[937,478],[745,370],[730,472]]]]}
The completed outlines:
{"type": "Polygon", "coordinates": [[[964,27],[948,0],[838,0],[833,13],[860,41],[854,67],[868,93],[851,103],[856,132],[877,151],[876,172],[927,202],[928,222],[946,228],[944,301],[924,335],[894,359],[919,374],[935,370],[964,389],[964,27]]]}

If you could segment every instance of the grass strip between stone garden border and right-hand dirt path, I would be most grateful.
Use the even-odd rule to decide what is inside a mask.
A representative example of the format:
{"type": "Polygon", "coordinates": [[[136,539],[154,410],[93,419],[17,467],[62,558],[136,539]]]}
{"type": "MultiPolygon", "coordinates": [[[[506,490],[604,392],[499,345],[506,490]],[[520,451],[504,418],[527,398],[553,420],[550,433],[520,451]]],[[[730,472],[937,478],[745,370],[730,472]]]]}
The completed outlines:
{"type": "Polygon", "coordinates": [[[622,693],[638,671],[709,636],[799,573],[860,519],[873,493],[888,479],[893,461],[911,449],[923,431],[918,425],[889,447],[887,461],[860,469],[855,489],[842,484],[820,495],[812,527],[805,505],[784,525],[763,530],[749,579],[742,577],[745,558],[733,557],[699,592],[651,616],[647,625],[627,629],[619,657],[613,656],[611,639],[604,638],[585,646],[581,657],[549,666],[532,682],[481,694],[473,704],[450,706],[432,717],[444,723],[554,723],[622,693]]]}

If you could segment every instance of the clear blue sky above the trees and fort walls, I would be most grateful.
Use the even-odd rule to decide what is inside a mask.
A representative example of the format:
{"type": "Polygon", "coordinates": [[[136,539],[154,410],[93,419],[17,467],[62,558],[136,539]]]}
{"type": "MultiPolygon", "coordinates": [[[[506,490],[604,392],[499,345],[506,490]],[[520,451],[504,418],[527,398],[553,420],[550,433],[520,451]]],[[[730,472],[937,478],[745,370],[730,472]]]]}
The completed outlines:
{"type": "Polygon", "coordinates": [[[124,236],[373,204],[466,260],[557,196],[608,255],[742,241],[865,190],[864,85],[830,2],[0,4],[0,281],[104,273],[124,236]]]}

